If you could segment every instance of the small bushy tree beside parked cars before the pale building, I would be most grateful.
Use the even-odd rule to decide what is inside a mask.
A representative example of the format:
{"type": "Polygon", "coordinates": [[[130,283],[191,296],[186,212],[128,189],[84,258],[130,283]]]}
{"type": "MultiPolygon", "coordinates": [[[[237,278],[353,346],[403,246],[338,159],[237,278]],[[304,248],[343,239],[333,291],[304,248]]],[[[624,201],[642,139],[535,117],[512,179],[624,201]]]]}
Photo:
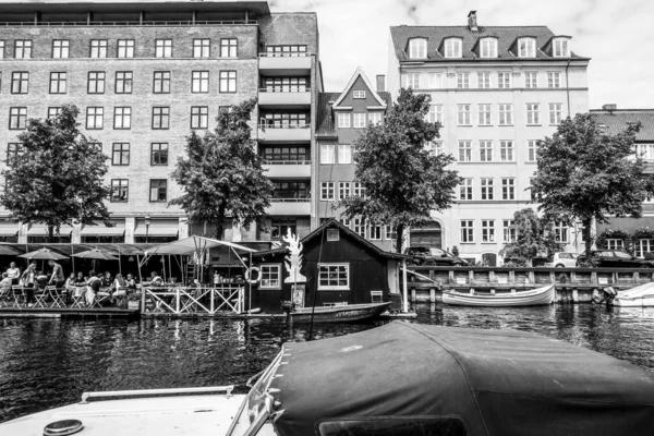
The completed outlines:
{"type": "Polygon", "coordinates": [[[516,240],[506,243],[499,254],[522,266],[531,266],[538,255],[560,250],[560,244],[554,240],[552,221],[538,218],[529,207],[516,210],[511,230],[516,232],[516,240]]]}

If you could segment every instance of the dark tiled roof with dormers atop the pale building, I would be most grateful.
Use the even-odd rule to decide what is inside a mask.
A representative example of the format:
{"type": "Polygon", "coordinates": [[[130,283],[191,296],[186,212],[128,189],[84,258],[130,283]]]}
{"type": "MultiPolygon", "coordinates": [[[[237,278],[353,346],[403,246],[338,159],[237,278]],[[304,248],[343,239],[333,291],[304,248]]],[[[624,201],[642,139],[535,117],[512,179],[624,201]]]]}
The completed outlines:
{"type": "MultiPolygon", "coordinates": [[[[564,35],[555,35],[547,26],[479,26],[475,32],[470,31],[468,26],[395,26],[390,27],[390,37],[392,39],[396,57],[400,62],[411,61],[409,59],[408,45],[409,39],[423,37],[427,38],[427,60],[444,61],[444,62],[461,62],[461,61],[524,61],[524,58],[511,51],[516,40],[520,37],[536,38],[536,58],[537,60],[555,60],[574,59],[588,60],[571,52],[570,58],[554,58],[547,55],[544,50],[554,37],[566,37],[564,35]],[[458,37],[463,39],[462,58],[446,59],[443,52],[438,52],[444,40],[449,37],[458,37]],[[477,41],[484,37],[497,38],[497,58],[482,59],[475,55],[472,49],[477,45],[477,41]]],[[[529,60],[529,59],[526,59],[529,60]]],[[[420,60],[417,60],[420,61],[420,60]]]]}

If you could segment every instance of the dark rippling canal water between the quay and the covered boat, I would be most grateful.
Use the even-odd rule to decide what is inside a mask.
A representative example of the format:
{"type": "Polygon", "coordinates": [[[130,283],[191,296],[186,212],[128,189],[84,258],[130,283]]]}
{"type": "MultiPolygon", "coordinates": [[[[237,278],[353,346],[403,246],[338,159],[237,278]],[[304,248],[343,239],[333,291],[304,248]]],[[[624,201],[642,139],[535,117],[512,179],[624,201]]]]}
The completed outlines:
{"type": "MultiPolygon", "coordinates": [[[[654,372],[654,308],[419,304],[416,310],[415,323],[533,331],[654,372]]],[[[379,324],[319,325],[314,337],[379,324]]],[[[245,391],[247,378],[266,367],[282,343],[307,337],[307,326],[278,319],[0,319],[0,422],[76,402],[84,391],[230,384],[245,391]]]]}

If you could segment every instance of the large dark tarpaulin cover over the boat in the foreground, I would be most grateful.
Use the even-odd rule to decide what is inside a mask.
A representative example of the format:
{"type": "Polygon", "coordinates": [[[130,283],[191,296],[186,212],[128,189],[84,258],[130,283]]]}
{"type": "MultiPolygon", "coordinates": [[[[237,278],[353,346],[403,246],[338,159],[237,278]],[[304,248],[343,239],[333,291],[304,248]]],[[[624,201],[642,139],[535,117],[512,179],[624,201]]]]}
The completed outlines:
{"type": "Polygon", "coordinates": [[[459,416],[473,436],[654,434],[654,374],[522,331],[396,322],[288,343],[277,375],[281,436],[383,416],[459,416]]]}

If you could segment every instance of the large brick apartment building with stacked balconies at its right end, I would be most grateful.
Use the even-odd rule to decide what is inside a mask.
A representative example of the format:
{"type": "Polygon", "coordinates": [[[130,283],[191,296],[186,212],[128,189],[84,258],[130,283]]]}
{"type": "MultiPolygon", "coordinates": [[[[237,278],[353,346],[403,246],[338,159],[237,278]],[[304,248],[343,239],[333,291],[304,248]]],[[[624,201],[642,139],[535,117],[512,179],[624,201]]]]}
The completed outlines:
{"type": "MultiPolygon", "coordinates": [[[[230,240],[307,233],[312,149],[322,90],[315,13],[271,13],[267,1],[0,3],[0,148],[20,153],[29,118],[81,110],[82,131],[109,157],[113,228],[73,225],[60,242],[166,242],[190,232],[170,179],[192,130],[221,107],[258,97],[253,132],[275,183],[272,233],[232,228],[230,240]],[[292,164],[292,165],[289,165],[292,164]]],[[[4,165],[4,159],[2,159],[4,165]]],[[[7,242],[41,242],[43,225],[0,210],[7,242]]]]}

